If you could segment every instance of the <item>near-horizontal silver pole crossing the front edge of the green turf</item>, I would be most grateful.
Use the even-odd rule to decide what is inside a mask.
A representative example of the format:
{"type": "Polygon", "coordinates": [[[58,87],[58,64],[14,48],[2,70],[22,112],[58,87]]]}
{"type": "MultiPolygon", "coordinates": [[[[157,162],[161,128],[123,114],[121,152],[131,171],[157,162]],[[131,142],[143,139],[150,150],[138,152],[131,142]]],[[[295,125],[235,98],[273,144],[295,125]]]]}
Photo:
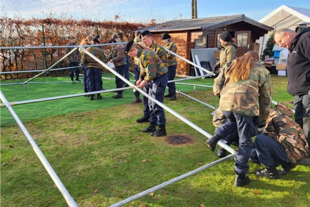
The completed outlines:
{"type": "MultiPolygon", "coordinates": [[[[12,106],[20,105],[20,104],[27,104],[27,103],[35,103],[35,102],[41,102],[41,101],[52,101],[57,99],[63,99],[63,98],[72,98],[72,97],[79,97],[79,96],[86,96],[86,95],[95,95],[98,93],[108,93],[108,92],[115,92],[119,90],[128,90],[132,89],[132,87],[124,87],[124,88],[114,88],[109,90],[102,90],[102,91],[93,91],[93,92],[87,92],[87,93],[77,93],[77,94],[71,94],[71,95],[64,95],[64,96],[55,96],[55,97],[49,97],[49,98],[38,98],[38,99],[32,99],[27,101],[14,101],[10,104],[12,106]]],[[[0,104],[0,107],[4,107],[4,105],[0,104]]]]}

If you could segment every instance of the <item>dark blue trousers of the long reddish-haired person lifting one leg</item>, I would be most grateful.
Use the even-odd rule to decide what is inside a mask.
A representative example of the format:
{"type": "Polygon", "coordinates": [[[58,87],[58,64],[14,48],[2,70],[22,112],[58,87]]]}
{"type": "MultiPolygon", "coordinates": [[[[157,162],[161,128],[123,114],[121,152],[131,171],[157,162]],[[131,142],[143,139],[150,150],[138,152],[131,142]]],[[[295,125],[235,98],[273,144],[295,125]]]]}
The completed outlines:
{"type": "Polygon", "coordinates": [[[248,159],[253,149],[251,138],[257,134],[259,117],[246,116],[231,111],[223,111],[223,113],[228,118],[228,122],[216,129],[215,133],[225,138],[236,131],[238,132],[239,150],[234,169],[237,174],[245,174],[249,170],[248,159]]]}

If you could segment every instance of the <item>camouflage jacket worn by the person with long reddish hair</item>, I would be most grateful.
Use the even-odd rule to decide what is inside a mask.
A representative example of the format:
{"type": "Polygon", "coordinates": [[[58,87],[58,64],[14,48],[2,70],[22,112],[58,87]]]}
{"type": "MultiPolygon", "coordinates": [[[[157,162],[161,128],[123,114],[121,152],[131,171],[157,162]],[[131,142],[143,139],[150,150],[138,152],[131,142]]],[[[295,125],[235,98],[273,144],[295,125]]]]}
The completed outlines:
{"type": "Polygon", "coordinates": [[[228,71],[232,62],[214,79],[213,92],[220,96],[219,109],[246,116],[260,116],[265,124],[271,108],[270,72],[258,62],[253,63],[249,78],[230,83],[228,71]]]}

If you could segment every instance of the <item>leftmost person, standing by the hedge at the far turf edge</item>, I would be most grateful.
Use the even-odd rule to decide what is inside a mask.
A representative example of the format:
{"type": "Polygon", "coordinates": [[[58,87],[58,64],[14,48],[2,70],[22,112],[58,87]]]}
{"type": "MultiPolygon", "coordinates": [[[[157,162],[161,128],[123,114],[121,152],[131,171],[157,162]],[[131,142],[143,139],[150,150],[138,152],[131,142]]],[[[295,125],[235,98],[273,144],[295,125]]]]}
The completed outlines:
{"type": "MultiPolygon", "coordinates": [[[[67,44],[67,46],[74,46],[74,45],[77,45],[76,38],[74,36],[70,36],[70,42],[67,44]]],[[[74,49],[73,47],[68,47],[66,49],[66,53],[68,54],[73,49],[74,49]]],[[[68,67],[75,67],[75,68],[70,69],[71,81],[73,81],[74,73],[75,73],[75,80],[80,81],[78,76],[80,73],[79,62],[80,62],[81,56],[80,56],[80,52],[78,51],[78,49],[75,50],[73,53],[71,53],[68,56],[68,59],[69,59],[68,67]]]]}

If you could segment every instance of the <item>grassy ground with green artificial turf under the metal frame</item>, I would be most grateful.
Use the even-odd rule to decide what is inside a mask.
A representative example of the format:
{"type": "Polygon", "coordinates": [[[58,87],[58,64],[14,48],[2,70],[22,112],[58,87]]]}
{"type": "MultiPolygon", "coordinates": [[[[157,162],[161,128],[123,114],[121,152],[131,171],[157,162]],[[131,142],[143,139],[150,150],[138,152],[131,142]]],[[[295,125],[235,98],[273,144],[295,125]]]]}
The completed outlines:
{"type": "MultiPolygon", "coordinates": [[[[187,82],[212,85],[213,80],[187,82]]],[[[293,100],[286,93],[285,77],[272,76],[272,82],[274,100],[293,100]]],[[[105,89],[114,87],[115,83],[104,81],[105,89]]],[[[218,103],[212,89],[180,88],[211,105],[218,103]]],[[[3,86],[1,90],[9,101],[20,101],[79,93],[82,84],[33,84],[26,91],[22,85],[3,86]]],[[[111,205],[200,167],[197,163],[218,159],[206,149],[206,137],[168,112],[168,135],[189,135],[192,144],[171,146],[166,137],[141,133],[146,124],[138,124],[135,119],[142,115],[143,105],[131,103],[132,90],[124,92],[123,99],[114,100],[111,96],[107,93],[102,100],[95,101],[77,97],[13,106],[79,206],[111,205]]],[[[164,103],[213,133],[210,108],[186,97],[177,101],[165,99],[164,103]]],[[[0,123],[5,126],[0,128],[0,206],[66,206],[23,133],[12,125],[14,120],[5,108],[0,109],[0,123]]],[[[309,167],[297,166],[280,180],[258,178],[251,173],[260,168],[250,163],[250,184],[235,188],[233,160],[229,160],[126,206],[310,206],[309,167]]]]}

